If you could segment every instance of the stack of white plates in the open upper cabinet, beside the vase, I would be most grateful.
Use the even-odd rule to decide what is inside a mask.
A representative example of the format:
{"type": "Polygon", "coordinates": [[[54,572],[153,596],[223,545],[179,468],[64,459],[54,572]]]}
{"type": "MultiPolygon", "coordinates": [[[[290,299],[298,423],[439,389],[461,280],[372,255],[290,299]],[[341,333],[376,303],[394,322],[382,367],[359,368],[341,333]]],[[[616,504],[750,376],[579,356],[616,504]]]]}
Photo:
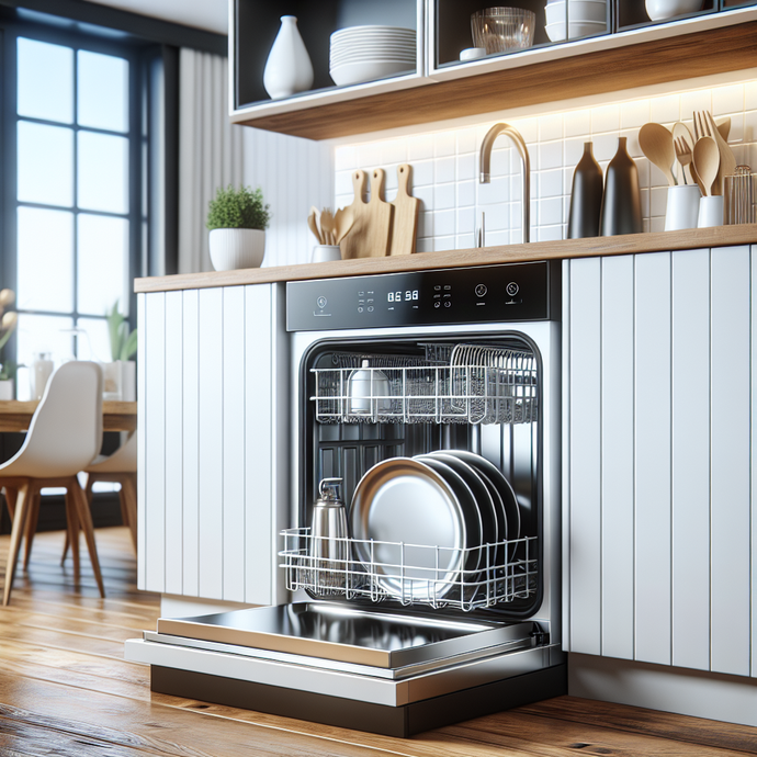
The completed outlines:
{"type": "Polygon", "coordinates": [[[329,69],[339,87],[416,68],[416,32],[397,26],[350,26],[331,34],[329,69]]]}

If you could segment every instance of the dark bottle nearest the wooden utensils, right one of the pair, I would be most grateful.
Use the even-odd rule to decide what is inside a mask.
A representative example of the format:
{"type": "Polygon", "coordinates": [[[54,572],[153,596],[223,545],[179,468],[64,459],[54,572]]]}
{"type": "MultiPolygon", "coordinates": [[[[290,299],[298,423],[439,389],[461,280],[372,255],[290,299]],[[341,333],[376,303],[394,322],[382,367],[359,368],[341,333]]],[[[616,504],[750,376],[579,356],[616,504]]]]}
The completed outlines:
{"type": "Polygon", "coordinates": [[[618,151],[607,167],[605,195],[599,221],[603,237],[642,231],[642,200],[639,169],[625,149],[625,137],[618,137],[618,151]]]}

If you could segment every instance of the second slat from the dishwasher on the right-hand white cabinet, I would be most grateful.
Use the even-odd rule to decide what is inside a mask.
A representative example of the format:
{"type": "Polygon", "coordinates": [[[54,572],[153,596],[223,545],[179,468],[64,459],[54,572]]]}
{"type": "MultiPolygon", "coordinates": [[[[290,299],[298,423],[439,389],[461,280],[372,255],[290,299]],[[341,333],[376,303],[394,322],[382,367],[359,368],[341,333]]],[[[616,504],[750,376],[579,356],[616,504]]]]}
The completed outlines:
{"type": "Polygon", "coordinates": [[[633,659],[633,269],[602,258],[602,655],[633,659]]]}

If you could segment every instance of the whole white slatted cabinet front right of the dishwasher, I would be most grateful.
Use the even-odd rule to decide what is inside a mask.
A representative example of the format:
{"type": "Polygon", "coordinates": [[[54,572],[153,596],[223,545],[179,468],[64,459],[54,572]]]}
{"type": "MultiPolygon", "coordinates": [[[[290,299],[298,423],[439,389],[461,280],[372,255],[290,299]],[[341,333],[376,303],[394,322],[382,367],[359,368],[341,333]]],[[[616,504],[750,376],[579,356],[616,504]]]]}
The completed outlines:
{"type": "Polygon", "coordinates": [[[563,270],[566,648],[757,677],[757,246],[563,270]]]}

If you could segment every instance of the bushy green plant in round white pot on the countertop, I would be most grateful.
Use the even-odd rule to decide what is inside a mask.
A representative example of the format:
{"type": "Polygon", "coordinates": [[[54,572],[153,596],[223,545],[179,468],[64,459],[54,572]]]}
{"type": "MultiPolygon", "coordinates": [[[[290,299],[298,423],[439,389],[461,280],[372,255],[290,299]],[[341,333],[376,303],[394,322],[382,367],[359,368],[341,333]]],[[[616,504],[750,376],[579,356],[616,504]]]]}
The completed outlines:
{"type": "Polygon", "coordinates": [[[265,251],[265,229],[271,218],[270,205],[263,204],[260,188],[219,188],[211,200],[206,226],[211,261],[216,271],[258,268],[265,251]]]}

